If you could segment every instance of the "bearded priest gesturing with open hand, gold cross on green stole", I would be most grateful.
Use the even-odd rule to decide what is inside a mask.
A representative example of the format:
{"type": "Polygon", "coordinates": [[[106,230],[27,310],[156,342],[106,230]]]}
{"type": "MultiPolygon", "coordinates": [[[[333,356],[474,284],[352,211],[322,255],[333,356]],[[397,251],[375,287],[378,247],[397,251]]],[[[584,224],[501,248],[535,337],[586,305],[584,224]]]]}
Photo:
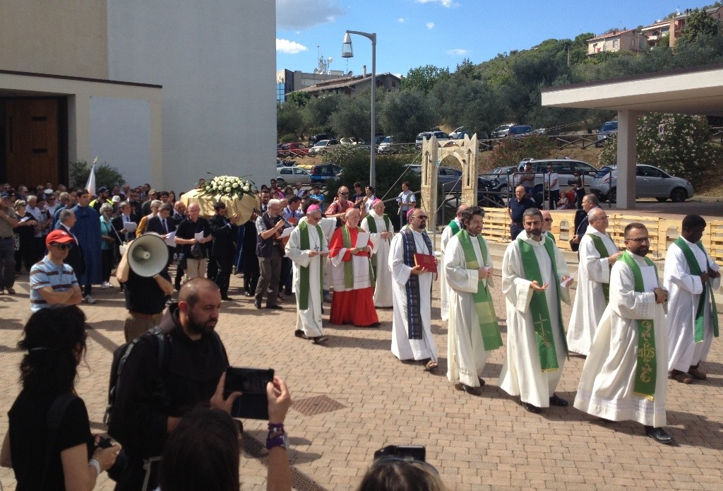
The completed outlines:
{"type": "Polygon", "coordinates": [[[502,257],[508,334],[500,388],[520,396],[527,411],[539,413],[550,405],[568,405],[555,388],[568,355],[560,301],[570,303],[570,277],[560,249],[552,239],[543,240],[542,213],[525,210],[523,227],[502,257]]]}

